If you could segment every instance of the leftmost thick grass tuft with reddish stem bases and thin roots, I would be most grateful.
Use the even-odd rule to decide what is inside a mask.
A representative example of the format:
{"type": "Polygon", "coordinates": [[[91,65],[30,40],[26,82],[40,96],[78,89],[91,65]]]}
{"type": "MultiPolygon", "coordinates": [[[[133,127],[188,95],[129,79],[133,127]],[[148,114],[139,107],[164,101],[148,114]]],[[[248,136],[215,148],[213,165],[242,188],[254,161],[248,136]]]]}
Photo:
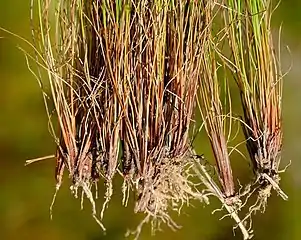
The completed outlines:
{"type": "MultiPolygon", "coordinates": [[[[33,30],[36,49],[42,56],[37,61],[47,70],[58,119],[59,136],[50,123],[58,146],[57,190],[67,170],[75,197],[80,188],[103,229],[96,217],[91,188],[100,177],[107,185],[102,218],[117,171],[122,112],[117,74],[121,68],[118,61],[122,60],[119,48],[123,45],[115,45],[117,20],[109,18],[113,6],[107,3],[39,0],[38,27],[33,30]]],[[[50,119],[47,101],[46,109],[50,119]]]]}

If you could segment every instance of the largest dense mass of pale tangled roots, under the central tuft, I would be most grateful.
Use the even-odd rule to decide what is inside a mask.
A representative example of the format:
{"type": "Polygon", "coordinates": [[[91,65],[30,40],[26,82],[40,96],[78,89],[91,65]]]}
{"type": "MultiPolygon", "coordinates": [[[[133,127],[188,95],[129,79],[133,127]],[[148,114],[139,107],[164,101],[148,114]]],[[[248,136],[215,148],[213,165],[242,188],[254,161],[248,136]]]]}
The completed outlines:
{"type": "Polygon", "coordinates": [[[134,184],[138,194],[134,211],[142,212],[146,217],[141,221],[134,234],[137,239],[142,227],[151,223],[152,234],[160,230],[161,223],[167,224],[172,230],[180,228],[170,217],[170,210],[180,214],[184,205],[197,199],[206,202],[206,196],[197,190],[191,181],[193,161],[189,158],[165,158],[158,165],[150,166],[147,174],[140,177],[134,184]]]}

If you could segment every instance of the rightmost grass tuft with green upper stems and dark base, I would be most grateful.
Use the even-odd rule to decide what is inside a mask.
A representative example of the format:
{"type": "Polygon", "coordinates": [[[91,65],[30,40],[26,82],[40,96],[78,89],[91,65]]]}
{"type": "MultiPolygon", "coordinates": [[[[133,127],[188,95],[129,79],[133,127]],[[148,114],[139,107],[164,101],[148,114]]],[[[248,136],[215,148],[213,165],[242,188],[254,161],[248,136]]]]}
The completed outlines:
{"type": "MultiPolygon", "coordinates": [[[[279,187],[282,148],[282,82],[271,31],[271,1],[224,1],[224,21],[231,56],[225,62],[233,73],[243,108],[242,128],[255,174],[257,201],[250,214],[264,211],[279,187]]],[[[252,192],[254,192],[252,191],[252,192]]]]}

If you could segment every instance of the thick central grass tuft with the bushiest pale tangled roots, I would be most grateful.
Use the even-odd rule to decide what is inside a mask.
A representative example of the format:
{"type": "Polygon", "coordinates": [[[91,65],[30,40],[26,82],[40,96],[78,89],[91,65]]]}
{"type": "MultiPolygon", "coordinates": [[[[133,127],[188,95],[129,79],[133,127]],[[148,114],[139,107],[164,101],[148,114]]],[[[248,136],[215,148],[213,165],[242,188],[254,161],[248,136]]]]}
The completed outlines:
{"type": "Polygon", "coordinates": [[[155,230],[163,221],[178,228],[169,210],[179,212],[190,199],[202,200],[190,180],[189,128],[200,77],[204,5],[135,3],[123,95],[122,171],[136,192],[135,211],[146,213],[142,224],[151,221],[155,230]]]}

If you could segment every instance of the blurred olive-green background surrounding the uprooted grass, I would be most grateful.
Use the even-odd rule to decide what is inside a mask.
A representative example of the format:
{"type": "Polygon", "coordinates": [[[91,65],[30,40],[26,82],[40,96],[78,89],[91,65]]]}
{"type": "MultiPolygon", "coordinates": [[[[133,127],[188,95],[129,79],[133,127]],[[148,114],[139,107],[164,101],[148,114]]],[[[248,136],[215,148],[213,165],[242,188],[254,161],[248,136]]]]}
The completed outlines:
{"type": "MultiPolygon", "coordinates": [[[[266,213],[253,218],[254,239],[301,239],[298,218],[301,214],[298,205],[301,202],[300,12],[301,1],[282,0],[273,19],[275,32],[282,24],[284,70],[293,62],[284,81],[283,97],[283,166],[289,160],[292,166],[282,175],[282,187],[289,201],[273,193],[266,213]]],[[[29,0],[0,0],[0,26],[30,39],[29,0]]],[[[55,145],[48,133],[40,89],[18,47],[30,51],[24,42],[0,31],[0,239],[124,239],[126,230],[134,229],[142,216],[133,214],[132,206],[121,206],[121,189],[117,184],[104,219],[106,235],[92,219],[89,203],[81,211],[79,200],[70,195],[66,182],[58,194],[54,218],[50,220],[55,163],[45,160],[24,167],[24,162],[53,154],[55,145]]],[[[203,139],[198,139],[197,144],[202,142],[203,139]]],[[[248,172],[240,166],[246,163],[239,161],[238,158],[234,161],[237,165],[234,169],[240,170],[237,176],[244,176],[248,172]]],[[[222,214],[211,214],[214,206],[218,205],[205,207],[195,202],[184,209],[181,217],[175,216],[182,229],[173,232],[163,226],[163,231],[152,237],[148,226],[141,239],[241,239],[239,231],[233,236],[231,220],[218,221],[222,214]]]]}

